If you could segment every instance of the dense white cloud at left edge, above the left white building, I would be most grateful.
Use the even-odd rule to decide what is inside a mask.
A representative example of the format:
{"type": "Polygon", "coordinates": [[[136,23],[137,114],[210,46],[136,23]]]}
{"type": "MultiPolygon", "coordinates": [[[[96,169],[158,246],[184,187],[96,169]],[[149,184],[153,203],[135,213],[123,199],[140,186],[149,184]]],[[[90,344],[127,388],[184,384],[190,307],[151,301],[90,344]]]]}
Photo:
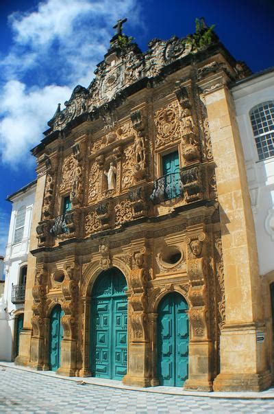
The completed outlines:
{"type": "Polygon", "coordinates": [[[21,163],[29,148],[39,143],[45,120],[52,117],[57,103],[64,102],[70,95],[69,87],[49,85],[27,91],[25,84],[18,80],[5,84],[0,95],[4,114],[0,122],[2,161],[14,167],[21,163]]]}

